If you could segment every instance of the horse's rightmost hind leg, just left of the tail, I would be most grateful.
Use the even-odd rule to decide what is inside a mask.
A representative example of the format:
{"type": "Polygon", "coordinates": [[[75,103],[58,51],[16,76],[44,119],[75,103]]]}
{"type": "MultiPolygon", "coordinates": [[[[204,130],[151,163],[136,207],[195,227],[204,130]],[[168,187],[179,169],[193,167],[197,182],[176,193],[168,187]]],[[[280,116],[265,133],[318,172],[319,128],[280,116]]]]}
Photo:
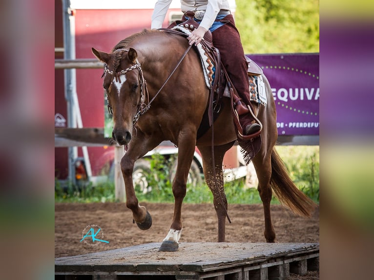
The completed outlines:
{"type": "Polygon", "coordinates": [[[253,165],[256,169],[258,178],[258,192],[264,206],[265,216],[265,239],[267,242],[275,242],[275,231],[271,223],[270,215],[270,201],[272,198],[272,190],[270,186],[271,177],[271,151],[272,147],[268,151],[264,151],[266,147],[261,148],[260,152],[254,157],[253,165]]]}

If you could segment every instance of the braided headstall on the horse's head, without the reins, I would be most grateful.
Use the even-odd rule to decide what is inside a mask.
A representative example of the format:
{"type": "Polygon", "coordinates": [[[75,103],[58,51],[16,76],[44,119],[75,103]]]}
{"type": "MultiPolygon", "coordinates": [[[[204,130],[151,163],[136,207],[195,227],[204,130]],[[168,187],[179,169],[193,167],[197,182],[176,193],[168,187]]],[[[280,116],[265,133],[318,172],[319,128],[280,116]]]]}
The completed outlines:
{"type": "MultiPolygon", "coordinates": [[[[127,51],[127,50],[123,50],[123,49],[120,49],[120,50],[121,51],[127,51]]],[[[120,50],[116,50],[116,51],[120,51],[120,50]]],[[[121,75],[125,75],[127,72],[130,72],[130,71],[132,71],[134,69],[137,69],[137,68],[139,69],[140,103],[138,105],[138,111],[135,114],[134,119],[132,120],[132,125],[135,125],[137,123],[137,121],[139,120],[139,117],[141,115],[143,115],[149,109],[149,106],[147,106],[144,103],[145,96],[147,97],[147,100],[148,100],[148,103],[149,103],[149,94],[148,94],[148,89],[147,89],[147,86],[146,86],[146,81],[144,79],[143,70],[142,70],[142,67],[140,65],[140,62],[138,60],[136,60],[136,63],[134,65],[132,65],[132,66],[126,68],[125,70],[120,71],[120,72],[114,72],[114,71],[109,70],[108,65],[105,64],[104,65],[104,73],[103,73],[103,76],[102,76],[102,78],[103,78],[104,75],[106,73],[108,73],[112,77],[112,80],[116,79],[117,82],[121,83],[121,79],[120,79],[121,75]]],[[[108,100],[108,112],[109,112],[110,115],[113,116],[113,108],[112,108],[112,105],[109,103],[109,98],[108,98],[107,94],[106,94],[106,99],[108,100]]]]}

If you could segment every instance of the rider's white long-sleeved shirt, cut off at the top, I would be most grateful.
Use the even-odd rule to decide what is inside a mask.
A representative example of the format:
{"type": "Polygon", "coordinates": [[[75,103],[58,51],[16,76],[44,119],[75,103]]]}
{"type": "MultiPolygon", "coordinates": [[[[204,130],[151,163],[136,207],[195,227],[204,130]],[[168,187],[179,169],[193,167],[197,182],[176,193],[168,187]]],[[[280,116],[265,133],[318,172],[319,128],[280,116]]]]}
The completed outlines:
{"type": "MultiPolygon", "coordinates": [[[[167,10],[172,0],[157,0],[152,14],[151,28],[161,28],[165,20],[167,10]]],[[[205,10],[205,15],[200,26],[206,30],[210,28],[217,17],[218,12],[229,10],[229,0],[181,0],[182,12],[205,10]]]]}

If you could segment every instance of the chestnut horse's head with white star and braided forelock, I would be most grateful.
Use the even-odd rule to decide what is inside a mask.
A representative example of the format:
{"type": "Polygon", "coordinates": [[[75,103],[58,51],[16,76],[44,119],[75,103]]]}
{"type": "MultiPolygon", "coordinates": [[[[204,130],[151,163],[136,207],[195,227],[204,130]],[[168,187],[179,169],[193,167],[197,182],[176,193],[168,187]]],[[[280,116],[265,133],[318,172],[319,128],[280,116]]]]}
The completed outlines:
{"type": "Polygon", "coordinates": [[[120,145],[127,145],[145,96],[145,81],[138,55],[133,48],[119,49],[113,53],[92,48],[92,53],[105,63],[103,86],[108,108],[113,113],[112,137],[120,145]]]}

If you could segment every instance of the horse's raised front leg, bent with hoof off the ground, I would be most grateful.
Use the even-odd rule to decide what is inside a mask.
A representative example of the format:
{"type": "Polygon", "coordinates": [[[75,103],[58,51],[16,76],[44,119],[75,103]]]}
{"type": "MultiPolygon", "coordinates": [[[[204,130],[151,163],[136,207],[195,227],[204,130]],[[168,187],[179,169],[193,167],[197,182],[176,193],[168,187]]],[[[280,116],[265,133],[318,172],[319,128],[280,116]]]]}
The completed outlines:
{"type": "Polygon", "coordinates": [[[155,141],[155,138],[152,140],[145,139],[139,130],[136,139],[130,143],[128,151],[121,160],[121,171],[125,181],[126,206],[132,211],[133,220],[142,230],[151,227],[152,217],[144,206],[139,205],[132,181],[132,173],[135,161],[158,144],[159,142],[155,141]]]}

